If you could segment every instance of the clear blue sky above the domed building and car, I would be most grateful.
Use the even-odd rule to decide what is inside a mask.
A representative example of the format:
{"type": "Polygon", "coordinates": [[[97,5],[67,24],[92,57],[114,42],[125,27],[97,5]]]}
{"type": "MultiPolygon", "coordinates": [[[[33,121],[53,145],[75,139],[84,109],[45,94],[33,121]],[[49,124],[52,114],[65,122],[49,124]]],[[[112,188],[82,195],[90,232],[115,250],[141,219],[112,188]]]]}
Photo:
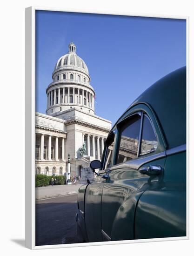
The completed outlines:
{"type": "Polygon", "coordinates": [[[150,85],[186,65],[186,20],[36,11],[36,111],[73,41],[96,92],[96,115],[114,122],[150,85]]]}

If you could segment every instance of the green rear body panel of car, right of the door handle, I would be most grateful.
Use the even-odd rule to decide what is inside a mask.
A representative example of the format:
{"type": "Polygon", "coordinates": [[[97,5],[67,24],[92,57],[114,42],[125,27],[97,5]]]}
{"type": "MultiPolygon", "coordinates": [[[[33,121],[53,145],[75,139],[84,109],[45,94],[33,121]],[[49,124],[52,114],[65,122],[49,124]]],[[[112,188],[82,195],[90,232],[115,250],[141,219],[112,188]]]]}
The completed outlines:
{"type": "Polygon", "coordinates": [[[161,181],[141,195],[135,212],[135,239],[186,236],[186,203],[185,144],[167,150],[161,181]]]}

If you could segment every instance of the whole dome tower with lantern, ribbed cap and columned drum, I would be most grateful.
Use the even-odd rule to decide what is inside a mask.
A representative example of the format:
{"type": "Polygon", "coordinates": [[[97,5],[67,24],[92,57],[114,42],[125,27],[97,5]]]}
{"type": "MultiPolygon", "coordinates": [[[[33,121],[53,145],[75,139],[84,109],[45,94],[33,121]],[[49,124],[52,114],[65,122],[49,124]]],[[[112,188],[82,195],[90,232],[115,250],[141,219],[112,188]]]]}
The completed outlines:
{"type": "Polygon", "coordinates": [[[69,44],[67,54],[57,61],[48,85],[47,115],[60,116],[70,108],[94,115],[95,91],[90,84],[86,63],[76,54],[76,46],[69,44]]]}

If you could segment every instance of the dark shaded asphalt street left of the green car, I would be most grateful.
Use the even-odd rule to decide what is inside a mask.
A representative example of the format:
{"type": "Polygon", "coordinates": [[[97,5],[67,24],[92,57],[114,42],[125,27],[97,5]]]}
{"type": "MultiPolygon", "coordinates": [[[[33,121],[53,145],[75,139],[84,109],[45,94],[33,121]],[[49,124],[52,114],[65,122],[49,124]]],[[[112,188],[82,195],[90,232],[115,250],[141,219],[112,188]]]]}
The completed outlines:
{"type": "Polygon", "coordinates": [[[36,201],[36,245],[78,243],[77,194],[36,201]]]}

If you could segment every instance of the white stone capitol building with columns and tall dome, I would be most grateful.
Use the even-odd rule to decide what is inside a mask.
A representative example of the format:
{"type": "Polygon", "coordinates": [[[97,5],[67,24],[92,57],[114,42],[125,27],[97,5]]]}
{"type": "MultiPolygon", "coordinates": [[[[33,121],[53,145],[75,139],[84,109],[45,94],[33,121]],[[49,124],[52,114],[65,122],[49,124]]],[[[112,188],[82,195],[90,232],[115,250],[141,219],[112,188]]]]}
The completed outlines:
{"type": "Polygon", "coordinates": [[[48,85],[46,115],[36,112],[36,174],[81,175],[101,159],[111,121],[95,115],[95,91],[86,63],[69,44],[57,61],[48,85]]]}

